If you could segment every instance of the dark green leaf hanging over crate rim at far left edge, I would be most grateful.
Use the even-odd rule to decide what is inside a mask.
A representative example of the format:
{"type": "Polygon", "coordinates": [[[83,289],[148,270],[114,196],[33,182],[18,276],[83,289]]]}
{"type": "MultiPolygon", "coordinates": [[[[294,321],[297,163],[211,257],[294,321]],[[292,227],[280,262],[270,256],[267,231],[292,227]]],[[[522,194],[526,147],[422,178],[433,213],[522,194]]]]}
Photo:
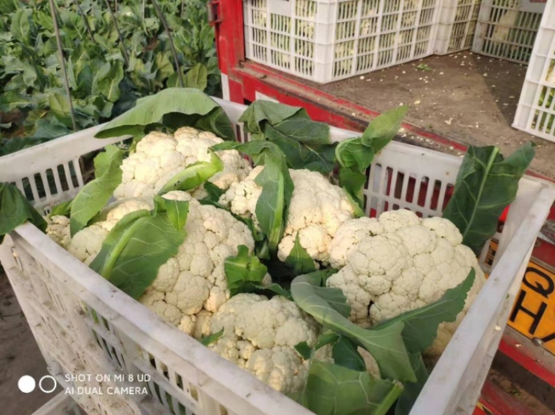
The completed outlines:
{"type": "Polygon", "coordinates": [[[0,243],[4,235],[29,220],[41,231],[46,230],[46,221],[28,202],[17,187],[0,183],[0,243]]]}

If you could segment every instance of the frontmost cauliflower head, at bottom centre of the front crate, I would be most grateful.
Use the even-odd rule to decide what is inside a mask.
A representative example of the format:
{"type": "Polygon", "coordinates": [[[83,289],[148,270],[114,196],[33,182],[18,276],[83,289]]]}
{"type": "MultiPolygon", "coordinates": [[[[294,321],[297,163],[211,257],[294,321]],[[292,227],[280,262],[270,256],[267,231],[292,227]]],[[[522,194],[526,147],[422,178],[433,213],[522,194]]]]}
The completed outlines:
{"type": "Polygon", "coordinates": [[[237,294],[214,313],[210,333],[223,335],[210,345],[259,380],[284,394],[305,385],[308,362],[294,346],[316,343],[321,326],[285,297],[237,294]]]}

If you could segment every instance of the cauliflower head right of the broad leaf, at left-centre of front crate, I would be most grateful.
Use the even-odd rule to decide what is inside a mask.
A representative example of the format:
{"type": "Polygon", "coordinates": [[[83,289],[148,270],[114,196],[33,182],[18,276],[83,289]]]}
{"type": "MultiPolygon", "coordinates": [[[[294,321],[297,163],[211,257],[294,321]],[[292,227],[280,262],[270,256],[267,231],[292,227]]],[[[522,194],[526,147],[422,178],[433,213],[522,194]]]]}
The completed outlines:
{"type": "Polygon", "coordinates": [[[200,337],[212,313],[230,298],[225,258],[237,255],[239,245],[252,253],[255,241],[246,224],[228,211],[202,205],[185,192],[169,192],[164,198],[189,201],[187,236],[139,301],[170,324],[200,337]]]}

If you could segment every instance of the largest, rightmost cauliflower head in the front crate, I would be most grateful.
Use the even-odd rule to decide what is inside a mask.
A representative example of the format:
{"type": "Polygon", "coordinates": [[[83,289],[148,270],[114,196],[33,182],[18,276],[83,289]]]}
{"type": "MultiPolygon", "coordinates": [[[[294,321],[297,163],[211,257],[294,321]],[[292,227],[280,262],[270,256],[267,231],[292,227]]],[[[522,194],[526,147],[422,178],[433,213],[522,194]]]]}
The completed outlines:
{"type": "Polygon", "coordinates": [[[484,272],[463,237],[444,218],[420,219],[408,210],[388,211],[379,219],[348,220],[330,242],[332,267],[327,280],[340,288],[352,307],[350,319],[368,327],[432,303],[476,271],[463,311],[443,323],[429,355],[439,355],[485,283],[484,272]]]}

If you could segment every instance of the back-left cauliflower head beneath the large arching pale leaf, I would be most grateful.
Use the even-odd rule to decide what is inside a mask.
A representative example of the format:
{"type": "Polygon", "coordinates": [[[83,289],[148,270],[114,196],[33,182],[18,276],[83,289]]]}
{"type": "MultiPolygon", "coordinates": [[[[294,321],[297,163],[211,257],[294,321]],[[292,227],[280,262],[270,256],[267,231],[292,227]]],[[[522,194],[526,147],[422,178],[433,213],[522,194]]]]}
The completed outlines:
{"type": "MultiPolygon", "coordinates": [[[[152,198],[169,179],[189,164],[210,161],[208,149],[223,140],[212,132],[199,131],[193,127],[181,127],[175,134],[151,132],[137,143],[133,154],[123,160],[121,184],[114,191],[116,199],[127,197],[152,198]]],[[[227,189],[250,173],[248,161],[237,150],[216,152],[223,162],[223,171],[210,178],[210,182],[227,189]]],[[[205,195],[201,188],[194,193],[205,195]]]]}

